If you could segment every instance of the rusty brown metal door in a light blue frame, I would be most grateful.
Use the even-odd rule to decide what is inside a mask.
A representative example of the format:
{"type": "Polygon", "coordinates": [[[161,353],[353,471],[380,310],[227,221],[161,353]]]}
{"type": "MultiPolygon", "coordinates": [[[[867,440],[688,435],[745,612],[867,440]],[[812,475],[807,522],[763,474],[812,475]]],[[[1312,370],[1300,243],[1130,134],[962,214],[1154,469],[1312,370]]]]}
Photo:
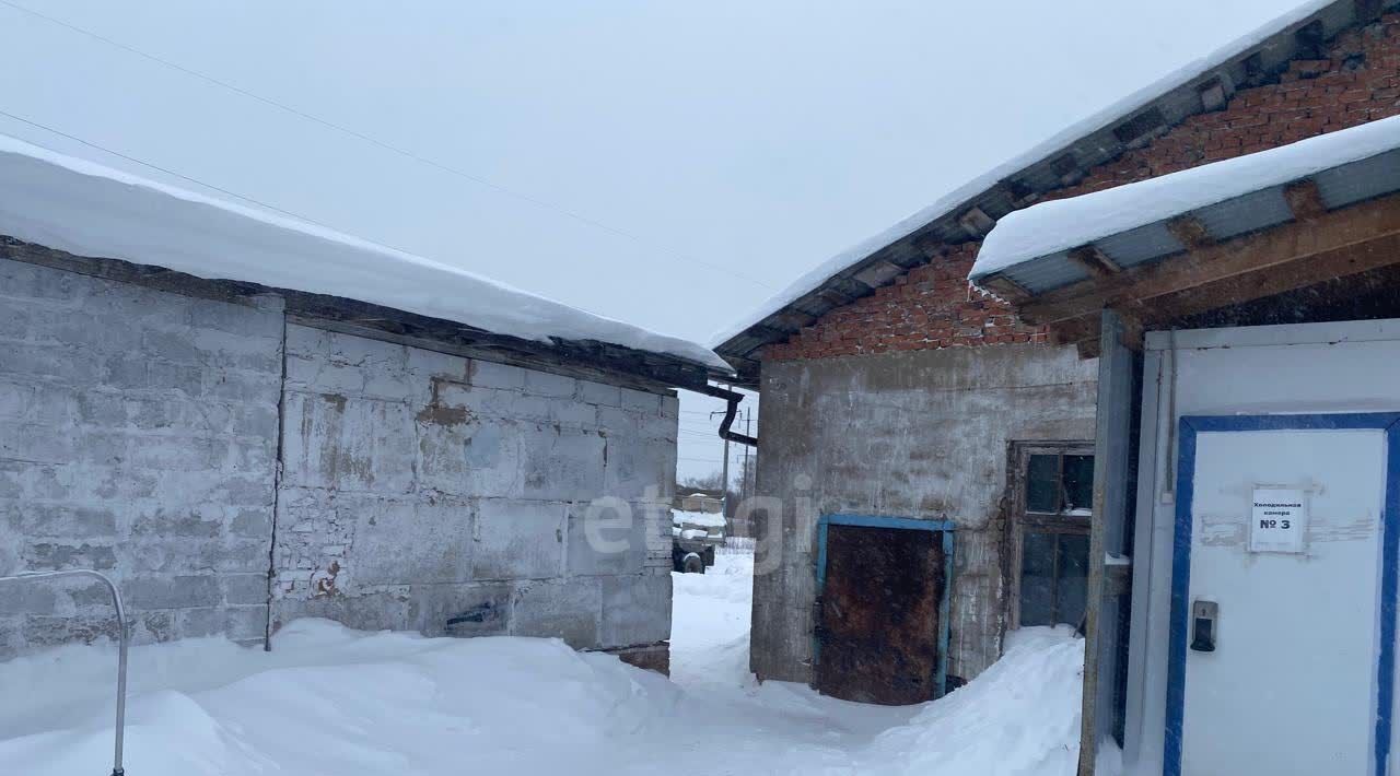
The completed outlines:
{"type": "Polygon", "coordinates": [[[942,695],[949,529],[900,517],[822,519],[815,633],[819,692],[888,706],[942,695]]]}

